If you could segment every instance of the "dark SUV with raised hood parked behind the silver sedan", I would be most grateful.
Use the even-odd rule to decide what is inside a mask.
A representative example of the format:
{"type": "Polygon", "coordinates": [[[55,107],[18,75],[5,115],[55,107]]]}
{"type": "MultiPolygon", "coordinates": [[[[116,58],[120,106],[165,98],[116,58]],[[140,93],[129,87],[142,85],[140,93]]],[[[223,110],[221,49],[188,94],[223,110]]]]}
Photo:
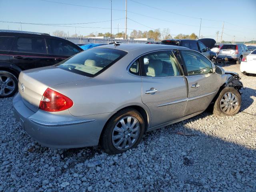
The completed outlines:
{"type": "Polygon", "coordinates": [[[217,57],[217,54],[212,52],[210,49],[214,46],[216,41],[214,39],[199,39],[199,40],[190,40],[190,39],[168,39],[162,40],[160,44],[164,45],[175,45],[175,46],[182,46],[186,48],[190,48],[192,50],[196,50],[208,59],[210,59],[213,63],[217,57]],[[202,42],[204,41],[205,42],[202,42]]]}

